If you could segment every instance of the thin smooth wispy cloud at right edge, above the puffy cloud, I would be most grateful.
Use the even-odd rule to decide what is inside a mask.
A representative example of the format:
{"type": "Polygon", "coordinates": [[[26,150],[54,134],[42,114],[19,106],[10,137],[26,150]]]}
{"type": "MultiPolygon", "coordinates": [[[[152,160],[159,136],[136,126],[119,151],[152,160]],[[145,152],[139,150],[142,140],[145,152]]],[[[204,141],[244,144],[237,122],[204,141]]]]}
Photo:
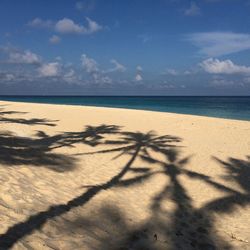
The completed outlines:
{"type": "Polygon", "coordinates": [[[187,40],[208,56],[221,56],[250,49],[250,34],[233,32],[194,33],[187,40]]]}

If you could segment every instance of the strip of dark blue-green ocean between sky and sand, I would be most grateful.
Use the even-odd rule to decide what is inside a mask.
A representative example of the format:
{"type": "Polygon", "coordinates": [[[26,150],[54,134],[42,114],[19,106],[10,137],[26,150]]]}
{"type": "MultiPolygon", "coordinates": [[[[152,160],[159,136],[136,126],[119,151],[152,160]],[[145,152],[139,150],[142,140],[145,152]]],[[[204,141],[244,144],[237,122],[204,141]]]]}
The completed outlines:
{"type": "Polygon", "coordinates": [[[0,100],[142,109],[250,121],[250,97],[0,96],[0,100]]]}

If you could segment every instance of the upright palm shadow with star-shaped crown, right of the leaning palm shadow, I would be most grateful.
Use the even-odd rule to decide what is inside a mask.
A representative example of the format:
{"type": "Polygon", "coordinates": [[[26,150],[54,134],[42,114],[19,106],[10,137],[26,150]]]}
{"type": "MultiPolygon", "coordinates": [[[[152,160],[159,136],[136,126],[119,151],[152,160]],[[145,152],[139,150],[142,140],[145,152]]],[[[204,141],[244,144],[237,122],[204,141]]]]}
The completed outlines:
{"type": "MultiPolygon", "coordinates": [[[[216,234],[214,218],[206,210],[194,207],[180,179],[182,175],[205,181],[209,177],[185,169],[191,157],[180,159],[177,150],[164,151],[165,161],[144,157],[146,161],[160,164],[162,174],[170,183],[152,199],[152,216],[143,228],[155,228],[156,235],[160,235],[161,241],[168,242],[170,249],[230,249],[229,244],[216,234]],[[163,209],[163,203],[168,200],[173,202],[174,212],[163,209]]],[[[210,180],[207,183],[216,186],[210,180]]]]}

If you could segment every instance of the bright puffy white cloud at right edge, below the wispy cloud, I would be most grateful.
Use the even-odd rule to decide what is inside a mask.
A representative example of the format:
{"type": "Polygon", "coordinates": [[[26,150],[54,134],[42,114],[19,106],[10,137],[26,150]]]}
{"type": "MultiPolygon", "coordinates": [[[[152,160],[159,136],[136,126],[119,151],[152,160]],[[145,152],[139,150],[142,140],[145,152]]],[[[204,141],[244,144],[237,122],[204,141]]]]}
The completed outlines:
{"type": "Polygon", "coordinates": [[[250,67],[234,64],[231,60],[209,58],[200,66],[210,74],[250,74],[250,67]]]}

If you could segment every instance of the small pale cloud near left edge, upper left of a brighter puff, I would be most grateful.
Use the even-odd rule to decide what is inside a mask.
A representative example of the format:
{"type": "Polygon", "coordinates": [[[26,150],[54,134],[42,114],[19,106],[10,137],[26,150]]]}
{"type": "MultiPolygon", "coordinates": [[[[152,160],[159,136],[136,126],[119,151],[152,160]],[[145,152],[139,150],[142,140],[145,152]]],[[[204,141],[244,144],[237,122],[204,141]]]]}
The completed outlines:
{"type": "Polygon", "coordinates": [[[20,64],[39,64],[41,62],[41,59],[37,54],[29,50],[25,50],[23,52],[10,51],[8,61],[10,63],[20,64]]]}

